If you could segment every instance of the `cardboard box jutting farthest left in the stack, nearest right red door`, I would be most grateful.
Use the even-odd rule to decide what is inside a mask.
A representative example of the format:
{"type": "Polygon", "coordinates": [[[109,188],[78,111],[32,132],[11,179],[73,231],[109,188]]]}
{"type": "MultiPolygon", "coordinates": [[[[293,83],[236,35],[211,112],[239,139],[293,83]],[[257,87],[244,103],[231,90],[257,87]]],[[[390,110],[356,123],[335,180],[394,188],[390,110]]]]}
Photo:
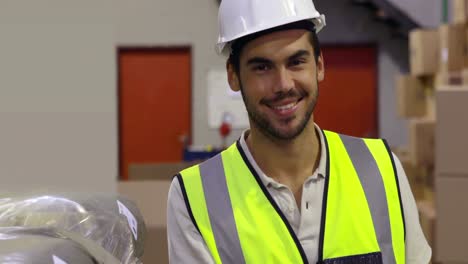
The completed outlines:
{"type": "Polygon", "coordinates": [[[397,109],[398,115],[403,118],[426,114],[424,86],[420,79],[410,75],[397,77],[397,109]]]}

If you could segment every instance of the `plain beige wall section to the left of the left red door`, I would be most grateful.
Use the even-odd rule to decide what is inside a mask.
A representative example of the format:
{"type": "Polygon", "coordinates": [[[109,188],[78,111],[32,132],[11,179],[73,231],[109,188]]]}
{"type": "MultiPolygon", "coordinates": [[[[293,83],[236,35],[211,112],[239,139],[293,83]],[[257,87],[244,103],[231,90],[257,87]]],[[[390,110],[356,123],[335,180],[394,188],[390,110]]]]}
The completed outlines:
{"type": "Polygon", "coordinates": [[[0,190],[116,190],[110,0],[0,3],[0,190]]]}

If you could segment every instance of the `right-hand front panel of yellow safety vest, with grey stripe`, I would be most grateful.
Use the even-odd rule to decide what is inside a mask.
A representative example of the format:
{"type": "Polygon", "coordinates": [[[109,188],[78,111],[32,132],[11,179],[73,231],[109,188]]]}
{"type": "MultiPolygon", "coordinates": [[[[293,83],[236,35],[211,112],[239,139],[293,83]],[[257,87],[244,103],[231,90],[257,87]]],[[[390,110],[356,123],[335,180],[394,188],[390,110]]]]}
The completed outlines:
{"type": "Polygon", "coordinates": [[[325,135],[330,164],[323,259],[381,252],[385,264],[404,263],[403,215],[391,153],[379,139],[325,135]]]}

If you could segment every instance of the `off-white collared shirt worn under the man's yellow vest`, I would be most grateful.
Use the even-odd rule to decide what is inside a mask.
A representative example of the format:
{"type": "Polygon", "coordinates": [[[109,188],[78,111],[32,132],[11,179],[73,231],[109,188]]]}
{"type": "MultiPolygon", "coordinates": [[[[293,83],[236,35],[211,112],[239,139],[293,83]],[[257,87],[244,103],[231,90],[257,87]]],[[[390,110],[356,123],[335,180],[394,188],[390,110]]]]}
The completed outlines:
{"type": "MultiPolygon", "coordinates": [[[[320,130],[317,125],[315,128],[320,130]]],[[[292,191],[287,186],[268,177],[255,162],[245,141],[248,131],[244,131],[239,139],[247,159],[294,230],[309,263],[317,263],[318,259],[324,177],[326,175],[327,149],[322,133],[317,134],[320,135],[321,145],[319,163],[317,169],[303,184],[300,210],[292,191]]],[[[419,223],[416,202],[399,159],[395,155],[393,157],[400,184],[406,224],[406,263],[429,263],[432,252],[419,223]]],[[[314,160],[311,159],[311,162],[314,160]]],[[[174,178],[169,190],[167,213],[170,263],[214,263],[203,238],[189,217],[177,178],[174,178]]]]}

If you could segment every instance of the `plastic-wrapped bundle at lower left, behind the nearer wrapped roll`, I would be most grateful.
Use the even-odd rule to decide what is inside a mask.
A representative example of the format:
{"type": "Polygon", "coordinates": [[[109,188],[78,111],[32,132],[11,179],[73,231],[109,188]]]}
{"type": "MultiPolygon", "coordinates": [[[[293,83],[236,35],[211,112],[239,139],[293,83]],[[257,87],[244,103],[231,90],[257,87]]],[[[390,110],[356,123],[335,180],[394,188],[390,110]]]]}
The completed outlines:
{"type": "Polygon", "coordinates": [[[121,196],[66,194],[0,199],[1,227],[52,228],[82,247],[102,247],[120,263],[140,263],[146,226],[121,196]],[[79,241],[78,241],[79,240],[79,241]]]}

